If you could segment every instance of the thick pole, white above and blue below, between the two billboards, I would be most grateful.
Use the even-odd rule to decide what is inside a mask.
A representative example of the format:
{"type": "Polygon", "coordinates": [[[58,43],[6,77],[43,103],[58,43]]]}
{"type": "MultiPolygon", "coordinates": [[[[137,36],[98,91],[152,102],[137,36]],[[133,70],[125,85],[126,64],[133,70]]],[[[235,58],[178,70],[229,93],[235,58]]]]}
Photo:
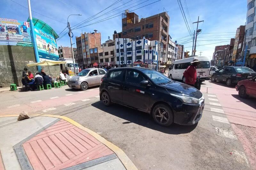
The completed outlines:
{"type": "MultiPolygon", "coordinates": [[[[40,59],[39,59],[38,49],[37,49],[37,45],[36,45],[36,35],[35,35],[35,32],[34,32],[34,24],[33,24],[33,20],[32,20],[30,0],[28,0],[28,14],[29,14],[30,31],[31,31],[31,35],[32,35],[31,38],[32,38],[33,46],[34,46],[36,63],[39,63],[40,59]]],[[[38,72],[41,72],[41,66],[40,65],[37,66],[37,70],[38,70],[38,72]]]]}

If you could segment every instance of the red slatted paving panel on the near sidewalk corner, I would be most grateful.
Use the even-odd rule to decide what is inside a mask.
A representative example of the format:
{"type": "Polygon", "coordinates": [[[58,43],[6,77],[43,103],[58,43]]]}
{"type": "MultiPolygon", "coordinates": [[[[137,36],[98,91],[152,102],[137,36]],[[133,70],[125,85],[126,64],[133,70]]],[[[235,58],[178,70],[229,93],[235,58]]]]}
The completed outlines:
{"type": "Polygon", "coordinates": [[[65,120],[31,138],[23,148],[34,169],[63,169],[114,153],[65,120]]]}

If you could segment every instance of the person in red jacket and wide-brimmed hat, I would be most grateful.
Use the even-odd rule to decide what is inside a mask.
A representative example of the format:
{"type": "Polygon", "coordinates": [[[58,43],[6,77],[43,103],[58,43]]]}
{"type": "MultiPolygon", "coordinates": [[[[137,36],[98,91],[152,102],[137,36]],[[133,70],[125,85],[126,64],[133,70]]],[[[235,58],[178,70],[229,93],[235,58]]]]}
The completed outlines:
{"type": "Polygon", "coordinates": [[[191,62],[191,65],[188,66],[188,68],[184,71],[183,76],[186,78],[185,83],[187,85],[191,85],[191,86],[194,87],[194,85],[196,83],[196,66],[199,63],[200,62],[197,59],[194,59],[191,62]]]}

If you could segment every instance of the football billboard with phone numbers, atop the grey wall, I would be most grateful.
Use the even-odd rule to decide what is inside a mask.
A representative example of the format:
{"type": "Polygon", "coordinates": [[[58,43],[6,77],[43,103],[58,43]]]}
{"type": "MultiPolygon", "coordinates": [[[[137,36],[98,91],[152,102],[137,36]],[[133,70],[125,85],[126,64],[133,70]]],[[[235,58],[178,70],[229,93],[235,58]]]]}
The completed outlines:
{"type": "Polygon", "coordinates": [[[29,22],[0,18],[0,41],[31,42],[29,22]]]}

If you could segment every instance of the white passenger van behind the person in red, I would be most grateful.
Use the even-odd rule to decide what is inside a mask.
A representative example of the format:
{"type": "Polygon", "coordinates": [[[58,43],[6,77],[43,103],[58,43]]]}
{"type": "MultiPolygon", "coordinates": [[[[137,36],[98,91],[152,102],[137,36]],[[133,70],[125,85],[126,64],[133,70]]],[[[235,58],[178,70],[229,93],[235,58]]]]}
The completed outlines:
{"type": "Polygon", "coordinates": [[[209,79],[211,67],[210,58],[203,56],[188,57],[181,60],[176,60],[169,68],[168,77],[171,79],[183,80],[183,82],[185,82],[183,73],[188,66],[191,65],[190,62],[192,62],[195,58],[200,61],[200,64],[197,65],[196,76],[200,76],[200,79],[209,79]]]}

